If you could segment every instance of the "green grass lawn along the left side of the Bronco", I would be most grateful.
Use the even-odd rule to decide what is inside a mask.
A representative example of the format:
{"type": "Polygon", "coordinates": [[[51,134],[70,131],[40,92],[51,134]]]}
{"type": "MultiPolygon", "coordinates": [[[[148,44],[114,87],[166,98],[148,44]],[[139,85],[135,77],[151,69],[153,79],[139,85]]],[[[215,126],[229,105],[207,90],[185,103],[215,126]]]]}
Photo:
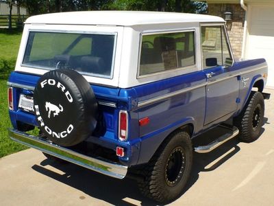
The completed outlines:
{"type": "Polygon", "coordinates": [[[18,31],[0,30],[0,157],[27,148],[10,140],[7,131],[11,123],[8,115],[6,85],[10,71],[15,67],[21,35],[22,33],[18,31]]]}

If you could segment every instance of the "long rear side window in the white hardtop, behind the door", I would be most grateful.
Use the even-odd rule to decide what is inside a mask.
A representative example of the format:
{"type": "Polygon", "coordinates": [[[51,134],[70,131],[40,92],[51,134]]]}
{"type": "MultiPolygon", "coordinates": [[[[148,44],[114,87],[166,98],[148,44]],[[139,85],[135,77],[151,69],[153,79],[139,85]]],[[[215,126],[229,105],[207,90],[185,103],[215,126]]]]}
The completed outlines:
{"type": "Polygon", "coordinates": [[[195,65],[194,32],[142,36],[139,75],[195,65]]]}

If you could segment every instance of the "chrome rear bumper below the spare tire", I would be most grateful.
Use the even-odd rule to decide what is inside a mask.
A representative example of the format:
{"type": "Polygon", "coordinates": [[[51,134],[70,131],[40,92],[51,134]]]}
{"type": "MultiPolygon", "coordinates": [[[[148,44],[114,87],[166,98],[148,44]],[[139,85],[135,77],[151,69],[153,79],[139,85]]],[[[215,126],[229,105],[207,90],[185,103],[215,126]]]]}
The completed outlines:
{"type": "Polygon", "coordinates": [[[73,150],[69,150],[68,148],[55,145],[45,139],[34,137],[15,129],[9,128],[8,133],[10,139],[17,141],[18,143],[36,148],[37,150],[41,150],[49,155],[70,161],[71,163],[75,163],[95,172],[112,176],[117,179],[123,179],[127,174],[127,167],[124,165],[109,163],[100,159],[88,157],[73,150]]]}

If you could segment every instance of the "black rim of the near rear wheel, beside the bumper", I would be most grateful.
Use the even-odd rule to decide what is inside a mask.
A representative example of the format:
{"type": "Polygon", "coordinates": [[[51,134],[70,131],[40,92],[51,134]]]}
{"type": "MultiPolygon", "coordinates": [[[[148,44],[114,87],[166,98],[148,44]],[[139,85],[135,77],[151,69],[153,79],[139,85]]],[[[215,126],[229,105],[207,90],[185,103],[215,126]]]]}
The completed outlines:
{"type": "Polygon", "coordinates": [[[186,157],[182,147],[172,150],[169,159],[166,162],[165,179],[167,185],[174,187],[179,183],[184,174],[186,166],[186,157]]]}

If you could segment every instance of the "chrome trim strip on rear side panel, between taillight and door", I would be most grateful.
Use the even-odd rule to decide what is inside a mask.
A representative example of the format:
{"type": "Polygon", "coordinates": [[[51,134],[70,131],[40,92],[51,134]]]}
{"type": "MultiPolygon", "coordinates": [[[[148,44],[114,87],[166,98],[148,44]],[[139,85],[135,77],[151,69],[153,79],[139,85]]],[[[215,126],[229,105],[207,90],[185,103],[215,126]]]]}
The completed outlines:
{"type": "Polygon", "coordinates": [[[179,94],[182,94],[182,93],[186,93],[188,91],[192,91],[194,89],[199,89],[201,87],[206,87],[207,84],[208,83],[205,82],[205,83],[202,83],[202,84],[199,84],[199,85],[195,85],[193,87],[188,87],[188,88],[185,88],[185,89],[181,89],[179,91],[174,91],[174,92],[171,92],[171,93],[167,93],[165,95],[161,95],[160,97],[151,98],[149,100],[138,102],[138,107],[145,106],[145,105],[148,105],[148,104],[152,104],[154,102],[159,102],[160,100],[171,98],[171,97],[174,97],[176,95],[179,95],[179,94]]]}

